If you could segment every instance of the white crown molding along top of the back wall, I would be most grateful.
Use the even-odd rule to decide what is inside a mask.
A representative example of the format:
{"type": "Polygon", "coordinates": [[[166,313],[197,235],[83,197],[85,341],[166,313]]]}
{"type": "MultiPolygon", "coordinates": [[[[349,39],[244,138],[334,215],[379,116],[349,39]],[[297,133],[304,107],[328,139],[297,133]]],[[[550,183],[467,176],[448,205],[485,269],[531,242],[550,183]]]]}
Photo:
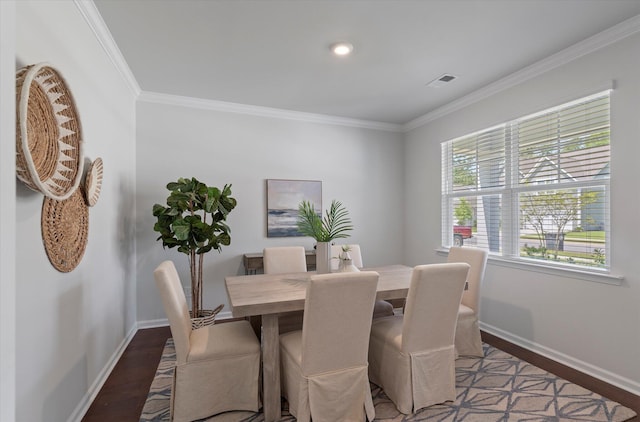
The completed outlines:
{"type": "Polygon", "coordinates": [[[252,116],[270,117],[274,119],[296,120],[307,123],[349,126],[362,129],[381,130],[386,132],[402,132],[402,125],[394,123],[351,119],[347,117],[305,113],[301,111],[291,111],[279,108],[229,103],[225,101],[205,100],[201,98],[162,94],[159,92],[142,91],[138,96],[138,101],[175,105],[180,107],[199,108],[203,110],[221,111],[226,113],[248,114],[252,116]]]}

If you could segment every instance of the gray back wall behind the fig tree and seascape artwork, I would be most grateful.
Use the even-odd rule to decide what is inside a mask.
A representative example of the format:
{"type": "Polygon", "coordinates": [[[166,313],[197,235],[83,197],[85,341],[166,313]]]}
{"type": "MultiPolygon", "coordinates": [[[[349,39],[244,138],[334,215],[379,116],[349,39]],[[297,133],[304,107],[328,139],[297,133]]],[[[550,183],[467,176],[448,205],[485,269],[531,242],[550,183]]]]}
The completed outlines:
{"type": "MultiPolygon", "coordinates": [[[[187,256],[163,249],[153,231],[153,204],[166,184],[196,177],[231,183],[238,206],[229,215],[231,245],[205,257],[205,305],[227,303],[224,277],[244,274],[242,254],[266,246],[313,247],[308,237],[266,237],[266,179],[321,180],[323,208],[332,199],[355,226],[348,239],[362,247],[365,265],[402,262],[404,172],[402,134],[328,123],[226,113],[185,104],[138,102],[136,236],[138,320],[164,319],[153,282],[163,260],[189,283],[187,256]]],[[[228,315],[229,307],[224,311],[228,315]]]]}

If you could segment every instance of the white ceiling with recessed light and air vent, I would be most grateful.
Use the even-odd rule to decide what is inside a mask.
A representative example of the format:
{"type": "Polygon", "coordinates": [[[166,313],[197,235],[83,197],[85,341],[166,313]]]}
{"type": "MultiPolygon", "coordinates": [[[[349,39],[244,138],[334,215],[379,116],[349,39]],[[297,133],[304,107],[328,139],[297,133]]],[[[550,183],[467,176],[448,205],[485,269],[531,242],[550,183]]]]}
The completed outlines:
{"type": "Polygon", "coordinates": [[[640,0],[94,3],[143,92],[392,124],[640,15],[640,0]]]}

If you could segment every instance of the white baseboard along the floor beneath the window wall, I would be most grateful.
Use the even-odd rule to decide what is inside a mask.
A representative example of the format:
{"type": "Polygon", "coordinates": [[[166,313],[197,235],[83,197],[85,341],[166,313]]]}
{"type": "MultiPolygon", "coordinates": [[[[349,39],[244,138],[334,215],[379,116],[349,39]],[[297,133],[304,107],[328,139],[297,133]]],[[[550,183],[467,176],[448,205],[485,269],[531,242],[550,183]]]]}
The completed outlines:
{"type": "Polygon", "coordinates": [[[493,334],[496,337],[500,337],[501,339],[504,339],[510,343],[535,352],[541,356],[552,359],[577,371],[583,372],[608,384],[615,385],[616,387],[622,388],[623,390],[640,396],[640,383],[623,377],[622,375],[615,374],[606,369],[602,369],[590,363],[583,362],[562,352],[529,341],[520,336],[509,333],[492,325],[485,324],[483,322],[480,322],[480,329],[482,331],[486,331],[489,334],[493,334]]]}

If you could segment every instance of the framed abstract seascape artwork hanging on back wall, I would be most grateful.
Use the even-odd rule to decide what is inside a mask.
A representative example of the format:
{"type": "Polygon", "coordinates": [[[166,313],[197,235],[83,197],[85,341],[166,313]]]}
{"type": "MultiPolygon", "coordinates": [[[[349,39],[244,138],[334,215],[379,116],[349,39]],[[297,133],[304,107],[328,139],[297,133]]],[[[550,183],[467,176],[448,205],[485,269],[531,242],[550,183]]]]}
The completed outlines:
{"type": "Polygon", "coordinates": [[[319,180],[267,179],[267,237],[303,236],[298,231],[298,205],[309,201],[320,214],[322,182],[319,180]]]}

